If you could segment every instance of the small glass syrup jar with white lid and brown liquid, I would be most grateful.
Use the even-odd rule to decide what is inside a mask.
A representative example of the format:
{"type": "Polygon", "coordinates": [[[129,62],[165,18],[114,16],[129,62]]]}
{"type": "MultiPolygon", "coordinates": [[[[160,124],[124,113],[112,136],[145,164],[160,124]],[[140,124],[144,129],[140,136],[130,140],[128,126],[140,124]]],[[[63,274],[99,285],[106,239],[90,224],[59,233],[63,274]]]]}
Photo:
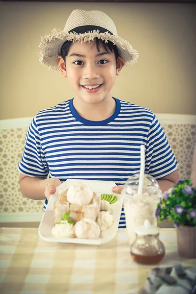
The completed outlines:
{"type": "Polygon", "coordinates": [[[148,220],[135,229],[136,239],[131,245],[131,257],[140,264],[157,264],[165,255],[165,246],[159,239],[159,228],[148,220]]]}

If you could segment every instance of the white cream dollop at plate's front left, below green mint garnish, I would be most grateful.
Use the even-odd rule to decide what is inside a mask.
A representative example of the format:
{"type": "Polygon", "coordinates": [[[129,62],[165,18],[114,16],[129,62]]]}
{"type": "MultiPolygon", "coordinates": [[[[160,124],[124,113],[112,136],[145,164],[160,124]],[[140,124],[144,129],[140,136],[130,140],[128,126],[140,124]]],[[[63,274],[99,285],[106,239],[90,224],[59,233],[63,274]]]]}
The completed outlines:
{"type": "Polygon", "coordinates": [[[54,237],[74,238],[73,224],[67,221],[60,221],[52,228],[52,235],[54,237]]]}

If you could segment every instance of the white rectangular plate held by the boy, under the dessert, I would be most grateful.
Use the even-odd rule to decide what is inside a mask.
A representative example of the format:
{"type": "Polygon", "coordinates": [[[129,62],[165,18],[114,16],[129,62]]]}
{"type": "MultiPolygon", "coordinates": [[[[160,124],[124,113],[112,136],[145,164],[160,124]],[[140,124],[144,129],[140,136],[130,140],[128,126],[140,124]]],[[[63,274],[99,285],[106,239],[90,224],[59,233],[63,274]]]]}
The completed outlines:
{"type": "Polygon", "coordinates": [[[63,237],[54,237],[51,234],[51,230],[54,226],[53,210],[54,210],[54,201],[57,200],[58,193],[68,189],[74,182],[83,182],[88,185],[93,192],[104,193],[104,194],[114,194],[112,193],[112,187],[116,184],[112,181],[94,181],[94,180],[76,180],[68,179],[66,182],[62,183],[57,187],[55,194],[51,195],[49,202],[46,208],[46,211],[43,215],[42,221],[39,226],[39,235],[42,239],[49,242],[62,242],[62,243],[77,243],[77,244],[89,244],[89,245],[100,245],[112,240],[118,230],[119,220],[121,217],[121,210],[123,205],[123,196],[119,194],[114,194],[118,197],[118,200],[110,204],[110,209],[114,217],[114,222],[110,228],[102,232],[102,236],[98,239],[79,239],[79,238],[63,238],[63,237]]]}

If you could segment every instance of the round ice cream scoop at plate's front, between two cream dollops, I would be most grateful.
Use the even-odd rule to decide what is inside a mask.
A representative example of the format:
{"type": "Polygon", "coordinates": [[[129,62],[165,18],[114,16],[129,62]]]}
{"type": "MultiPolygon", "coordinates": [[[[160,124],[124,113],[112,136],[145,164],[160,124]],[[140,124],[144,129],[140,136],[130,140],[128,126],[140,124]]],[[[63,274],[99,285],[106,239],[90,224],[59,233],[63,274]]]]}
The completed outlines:
{"type": "Polygon", "coordinates": [[[77,221],[74,228],[77,238],[98,239],[100,235],[99,226],[92,219],[83,219],[81,221],[77,221]]]}

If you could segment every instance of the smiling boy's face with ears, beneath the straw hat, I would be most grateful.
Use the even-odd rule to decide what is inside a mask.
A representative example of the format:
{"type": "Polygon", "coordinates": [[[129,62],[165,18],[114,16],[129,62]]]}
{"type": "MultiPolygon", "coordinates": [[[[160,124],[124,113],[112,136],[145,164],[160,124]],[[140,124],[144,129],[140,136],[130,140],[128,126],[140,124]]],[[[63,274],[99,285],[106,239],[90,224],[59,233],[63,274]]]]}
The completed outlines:
{"type": "Polygon", "coordinates": [[[116,63],[114,52],[102,46],[98,52],[95,41],[73,43],[66,56],[66,67],[63,58],[58,56],[59,69],[62,76],[68,78],[74,99],[91,104],[111,98],[110,91],[124,63],[121,57],[116,63]]]}

